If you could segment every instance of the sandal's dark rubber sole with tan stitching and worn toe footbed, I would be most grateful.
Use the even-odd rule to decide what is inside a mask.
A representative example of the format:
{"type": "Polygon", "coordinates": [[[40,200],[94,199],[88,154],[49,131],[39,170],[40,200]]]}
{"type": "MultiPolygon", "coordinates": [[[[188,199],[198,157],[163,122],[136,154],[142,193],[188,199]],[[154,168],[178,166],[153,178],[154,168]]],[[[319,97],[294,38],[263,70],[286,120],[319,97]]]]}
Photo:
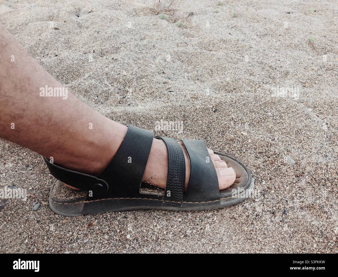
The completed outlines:
{"type": "MultiPolygon", "coordinates": [[[[228,165],[232,166],[236,173],[237,183],[220,191],[220,199],[207,202],[182,202],[181,207],[163,206],[163,199],[153,199],[151,194],[144,194],[145,198],[105,198],[86,200],[76,198],[72,200],[60,200],[53,197],[53,189],[58,180],[55,180],[50,190],[49,205],[53,212],[63,216],[79,216],[105,212],[118,212],[129,210],[158,209],[170,211],[200,211],[225,208],[236,205],[250,197],[254,189],[254,178],[249,170],[237,159],[222,153],[215,152],[228,165]],[[148,198],[146,198],[148,196],[148,198]]],[[[169,201],[170,202],[170,201],[169,201]]]]}

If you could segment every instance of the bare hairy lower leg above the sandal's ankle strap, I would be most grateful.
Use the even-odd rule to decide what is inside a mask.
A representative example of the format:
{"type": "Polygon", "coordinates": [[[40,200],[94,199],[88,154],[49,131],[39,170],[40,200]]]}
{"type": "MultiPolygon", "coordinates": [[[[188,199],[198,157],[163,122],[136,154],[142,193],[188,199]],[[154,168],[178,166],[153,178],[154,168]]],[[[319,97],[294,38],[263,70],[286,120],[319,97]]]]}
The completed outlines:
{"type": "Polygon", "coordinates": [[[126,126],[91,109],[70,91],[42,97],[40,88],[63,88],[0,23],[0,136],[68,168],[99,174],[115,155],[126,126]],[[91,129],[92,128],[92,129],[91,129]]]}

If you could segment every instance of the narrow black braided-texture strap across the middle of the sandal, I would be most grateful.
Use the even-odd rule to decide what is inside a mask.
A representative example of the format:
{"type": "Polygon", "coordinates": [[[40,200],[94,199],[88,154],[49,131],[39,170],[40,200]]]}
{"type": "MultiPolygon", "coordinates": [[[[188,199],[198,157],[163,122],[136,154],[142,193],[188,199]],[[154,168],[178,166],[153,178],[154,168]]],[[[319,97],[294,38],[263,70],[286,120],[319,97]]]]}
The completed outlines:
{"type": "Polygon", "coordinates": [[[180,207],[186,181],[186,163],[182,147],[173,138],[158,136],[155,138],[163,140],[168,152],[168,174],[163,206],[180,207]]]}

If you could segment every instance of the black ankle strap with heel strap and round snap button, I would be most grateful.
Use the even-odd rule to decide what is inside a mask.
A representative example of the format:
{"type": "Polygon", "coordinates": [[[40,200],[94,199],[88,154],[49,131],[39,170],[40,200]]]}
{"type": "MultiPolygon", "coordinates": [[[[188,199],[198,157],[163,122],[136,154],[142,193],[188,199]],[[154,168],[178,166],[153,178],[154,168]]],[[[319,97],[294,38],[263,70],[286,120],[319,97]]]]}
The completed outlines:
{"type": "Polygon", "coordinates": [[[95,195],[140,197],[140,186],[147,165],[154,133],[129,125],[114,158],[98,177],[45,162],[56,179],[95,195]]]}

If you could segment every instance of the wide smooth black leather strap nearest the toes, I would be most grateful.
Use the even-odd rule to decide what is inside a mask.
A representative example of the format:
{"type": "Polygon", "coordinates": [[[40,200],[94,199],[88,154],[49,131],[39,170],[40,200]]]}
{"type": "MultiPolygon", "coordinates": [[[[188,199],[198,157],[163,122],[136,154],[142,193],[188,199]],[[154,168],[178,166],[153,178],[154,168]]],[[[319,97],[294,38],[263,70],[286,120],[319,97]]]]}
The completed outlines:
{"type": "Polygon", "coordinates": [[[203,140],[182,140],[190,160],[190,178],[184,195],[186,202],[208,202],[220,199],[218,178],[203,140]]]}

